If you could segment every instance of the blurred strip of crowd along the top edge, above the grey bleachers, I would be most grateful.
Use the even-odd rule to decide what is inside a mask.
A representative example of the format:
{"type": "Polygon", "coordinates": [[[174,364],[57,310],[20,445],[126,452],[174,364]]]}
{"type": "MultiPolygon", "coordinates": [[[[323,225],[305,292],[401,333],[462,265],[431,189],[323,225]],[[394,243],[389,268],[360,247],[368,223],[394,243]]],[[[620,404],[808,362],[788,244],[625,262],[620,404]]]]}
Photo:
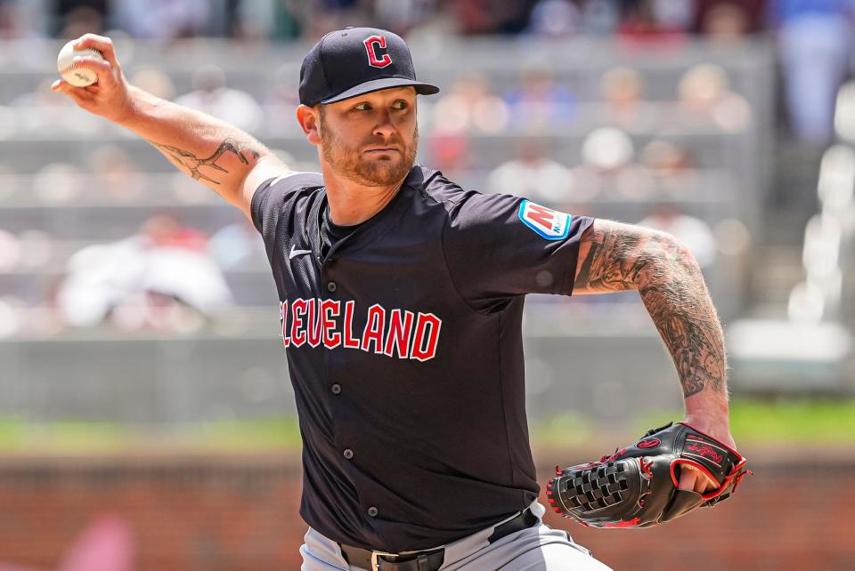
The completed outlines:
{"type": "Polygon", "coordinates": [[[371,25],[400,34],[734,37],[789,28],[807,14],[845,18],[849,0],[4,0],[6,38],[121,29],[171,40],[316,39],[371,25]]]}

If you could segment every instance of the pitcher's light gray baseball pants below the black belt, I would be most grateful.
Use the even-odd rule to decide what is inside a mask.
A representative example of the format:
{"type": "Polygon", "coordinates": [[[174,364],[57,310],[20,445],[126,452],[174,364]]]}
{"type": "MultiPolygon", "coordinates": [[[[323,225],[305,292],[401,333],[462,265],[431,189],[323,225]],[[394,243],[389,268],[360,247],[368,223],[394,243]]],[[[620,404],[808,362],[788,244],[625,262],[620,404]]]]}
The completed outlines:
{"type": "MultiPolygon", "coordinates": [[[[540,503],[533,503],[531,509],[542,519],[545,508],[540,503]]],[[[612,571],[565,531],[552,529],[542,521],[489,543],[487,538],[496,526],[445,545],[442,571],[612,571]]],[[[300,547],[301,571],[371,571],[348,565],[338,543],[311,527],[304,541],[300,547]]]]}

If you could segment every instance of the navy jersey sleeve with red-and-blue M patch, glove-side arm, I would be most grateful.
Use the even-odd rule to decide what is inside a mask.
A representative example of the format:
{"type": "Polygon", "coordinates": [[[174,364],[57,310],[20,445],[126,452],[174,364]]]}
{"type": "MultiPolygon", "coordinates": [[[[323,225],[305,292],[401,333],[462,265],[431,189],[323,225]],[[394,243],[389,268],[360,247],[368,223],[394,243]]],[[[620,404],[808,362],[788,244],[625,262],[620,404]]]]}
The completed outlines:
{"type": "Polygon", "coordinates": [[[593,223],[520,197],[467,193],[450,209],[445,261],[476,310],[521,294],[573,294],[582,234],[593,223]]]}

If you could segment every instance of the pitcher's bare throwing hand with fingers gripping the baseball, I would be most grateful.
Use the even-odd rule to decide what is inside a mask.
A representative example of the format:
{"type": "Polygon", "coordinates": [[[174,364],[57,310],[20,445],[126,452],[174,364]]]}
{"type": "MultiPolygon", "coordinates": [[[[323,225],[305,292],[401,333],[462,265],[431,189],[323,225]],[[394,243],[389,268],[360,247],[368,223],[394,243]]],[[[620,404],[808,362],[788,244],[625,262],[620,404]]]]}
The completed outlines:
{"type": "Polygon", "coordinates": [[[128,86],[116,58],[112,40],[109,37],[85,34],[73,45],[75,50],[90,48],[101,52],[103,59],[87,55],[79,55],[73,59],[76,68],[94,72],[98,77],[97,81],[85,87],[76,87],[59,79],[53,82],[51,89],[69,96],[82,109],[95,115],[111,120],[122,117],[128,108],[128,86]]]}

